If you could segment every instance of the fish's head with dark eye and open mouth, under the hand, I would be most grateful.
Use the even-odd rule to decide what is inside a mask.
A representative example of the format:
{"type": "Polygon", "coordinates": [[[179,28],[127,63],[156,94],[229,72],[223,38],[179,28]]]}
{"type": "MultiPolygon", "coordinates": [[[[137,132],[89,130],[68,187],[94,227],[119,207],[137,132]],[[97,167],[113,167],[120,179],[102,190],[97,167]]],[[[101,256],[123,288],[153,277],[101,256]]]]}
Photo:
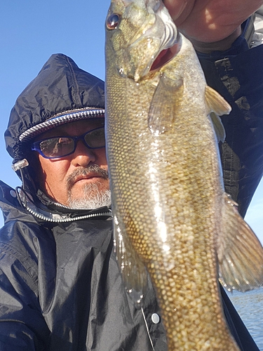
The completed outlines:
{"type": "Polygon", "coordinates": [[[106,19],[107,65],[136,82],[172,59],[178,32],[161,0],[112,0],[106,19]]]}

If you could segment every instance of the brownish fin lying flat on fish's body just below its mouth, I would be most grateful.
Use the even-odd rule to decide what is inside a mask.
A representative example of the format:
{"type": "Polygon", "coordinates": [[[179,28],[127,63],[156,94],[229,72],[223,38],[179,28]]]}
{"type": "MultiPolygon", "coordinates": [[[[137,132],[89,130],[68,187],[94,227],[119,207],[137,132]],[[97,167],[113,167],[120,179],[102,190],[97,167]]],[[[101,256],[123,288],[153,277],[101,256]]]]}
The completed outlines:
{"type": "Polygon", "coordinates": [[[148,126],[152,133],[163,133],[173,124],[182,84],[182,79],[174,80],[162,74],[149,107],[148,126]]]}

